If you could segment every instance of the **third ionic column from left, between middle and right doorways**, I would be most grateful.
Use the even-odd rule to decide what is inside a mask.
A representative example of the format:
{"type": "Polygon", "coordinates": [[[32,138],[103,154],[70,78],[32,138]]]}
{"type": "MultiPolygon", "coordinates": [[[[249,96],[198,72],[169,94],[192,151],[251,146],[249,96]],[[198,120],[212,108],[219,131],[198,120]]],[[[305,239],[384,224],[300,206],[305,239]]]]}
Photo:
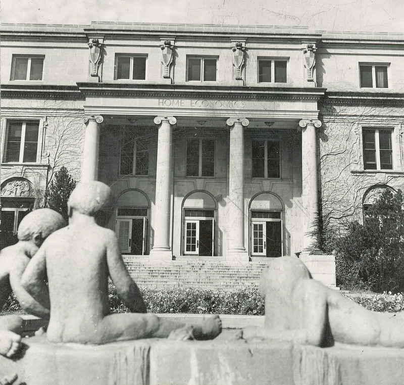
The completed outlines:
{"type": "Polygon", "coordinates": [[[228,234],[229,249],[227,259],[248,262],[244,246],[244,128],[247,119],[227,119],[230,127],[230,167],[228,234]]]}

